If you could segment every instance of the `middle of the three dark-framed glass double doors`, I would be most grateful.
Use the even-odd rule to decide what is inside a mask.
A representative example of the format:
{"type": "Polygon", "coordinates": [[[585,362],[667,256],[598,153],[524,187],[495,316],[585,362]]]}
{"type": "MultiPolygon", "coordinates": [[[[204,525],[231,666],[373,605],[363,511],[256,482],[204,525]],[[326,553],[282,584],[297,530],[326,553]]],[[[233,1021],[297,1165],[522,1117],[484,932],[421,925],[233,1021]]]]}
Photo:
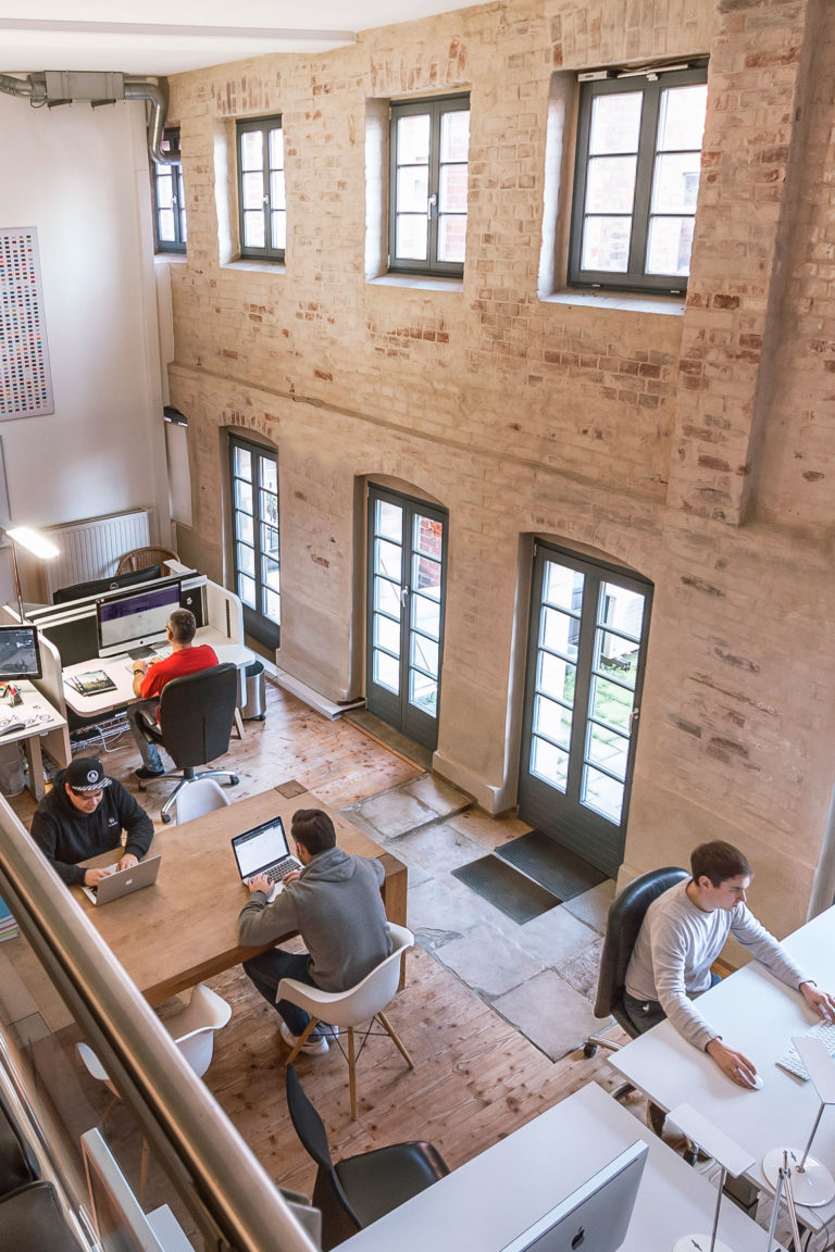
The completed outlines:
{"type": "Polygon", "coordinates": [[[434,750],[443,657],[447,515],[397,492],[368,492],[366,704],[434,750]]]}

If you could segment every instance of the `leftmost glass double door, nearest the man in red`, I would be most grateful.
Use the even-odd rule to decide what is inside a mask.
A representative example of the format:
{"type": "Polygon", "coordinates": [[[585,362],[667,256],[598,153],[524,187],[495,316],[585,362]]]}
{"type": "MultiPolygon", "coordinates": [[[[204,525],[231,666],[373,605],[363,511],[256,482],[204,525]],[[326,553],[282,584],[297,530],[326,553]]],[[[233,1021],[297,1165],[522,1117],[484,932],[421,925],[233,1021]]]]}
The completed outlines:
{"type": "Polygon", "coordinates": [[[268,649],[282,622],[278,457],[270,448],[229,436],[234,587],[244,630],[268,649]]]}

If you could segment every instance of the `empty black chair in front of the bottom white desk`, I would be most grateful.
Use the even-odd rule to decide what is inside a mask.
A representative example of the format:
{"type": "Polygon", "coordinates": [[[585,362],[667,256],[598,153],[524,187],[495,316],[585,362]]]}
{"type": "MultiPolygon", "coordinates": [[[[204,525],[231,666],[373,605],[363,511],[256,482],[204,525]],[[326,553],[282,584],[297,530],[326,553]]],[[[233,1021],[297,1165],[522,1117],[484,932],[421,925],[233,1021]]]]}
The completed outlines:
{"type": "Polygon", "coordinates": [[[302,1089],[295,1065],[287,1067],[287,1107],[302,1147],[319,1167],[313,1206],[322,1212],[324,1252],[384,1217],[449,1173],[431,1143],[392,1143],[333,1163],[328,1134],[302,1089]]]}

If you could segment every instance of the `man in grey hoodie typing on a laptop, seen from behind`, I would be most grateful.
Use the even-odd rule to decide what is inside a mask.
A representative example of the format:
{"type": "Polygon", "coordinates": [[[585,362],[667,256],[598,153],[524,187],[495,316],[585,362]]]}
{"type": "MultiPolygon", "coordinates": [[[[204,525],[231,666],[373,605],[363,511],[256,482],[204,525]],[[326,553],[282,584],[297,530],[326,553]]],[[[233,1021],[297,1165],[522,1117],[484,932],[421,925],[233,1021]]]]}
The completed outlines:
{"type": "MultiPolygon", "coordinates": [[[[255,947],[298,930],[307,953],[273,948],[243,963],[253,985],[282,1017],[282,1038],[295,1047],[310,1020],[308,1014],[279,1000],[282,978],[297,978],[323,992],[344,992],[384,960],[392,938],[379,894],[384,878],[378,860],[351,856],[337,848],[333,821],[320,809],[298,809],[290,836],[302,869],[288,874],[272,904],[272,883],[262,874],[249,881],[249,903],[238,918],[238,939],[255,947]]],[[[313,1030],[303,1052],[328,1050],[327,1030],[313,1030]]]]}

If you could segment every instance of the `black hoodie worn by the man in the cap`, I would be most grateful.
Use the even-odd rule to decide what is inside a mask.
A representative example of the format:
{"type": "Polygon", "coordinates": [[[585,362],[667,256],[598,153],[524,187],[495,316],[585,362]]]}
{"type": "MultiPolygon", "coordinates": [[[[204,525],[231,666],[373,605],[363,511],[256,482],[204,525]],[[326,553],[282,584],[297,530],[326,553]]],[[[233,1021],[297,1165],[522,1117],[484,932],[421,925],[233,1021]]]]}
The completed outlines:
{"type": "Polygon", "coordinates": [[[123,830],[125,851],[141,860],[154,838],[154,824],[130,791],[110,779],[95,813],[81,813],[64,789],[64,774],[61,770],[55,775],[53,790],[40,801],[31,821],[33,839],[64,881],[81,885],[84,869],[78,861],[118,848],[123,830]]]}

